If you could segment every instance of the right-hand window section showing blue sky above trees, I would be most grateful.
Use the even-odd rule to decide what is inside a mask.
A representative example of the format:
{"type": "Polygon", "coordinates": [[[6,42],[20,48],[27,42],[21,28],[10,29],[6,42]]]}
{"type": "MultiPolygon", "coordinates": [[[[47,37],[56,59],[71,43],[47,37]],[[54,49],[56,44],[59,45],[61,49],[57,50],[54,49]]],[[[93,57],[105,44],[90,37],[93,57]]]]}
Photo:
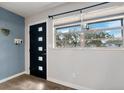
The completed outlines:
{"type": "Polygon", "coordinates": [[[121,19],[89,23],[85,33],[85,47],[122,47],[121,19]]]}

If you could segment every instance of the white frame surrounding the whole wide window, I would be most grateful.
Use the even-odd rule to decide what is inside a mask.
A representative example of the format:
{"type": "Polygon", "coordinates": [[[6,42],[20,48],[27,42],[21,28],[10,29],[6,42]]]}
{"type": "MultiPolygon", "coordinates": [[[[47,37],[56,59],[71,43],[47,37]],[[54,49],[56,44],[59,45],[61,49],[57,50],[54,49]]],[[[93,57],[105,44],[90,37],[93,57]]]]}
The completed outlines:
{"type": "MultiPolygon", "coordinates": [[[[67,28],[67,27],[73,27],[73,26],[75,26],[75,24],[73,25],[73,24],[71,24],[71,26],[67,26],[67,27],[54,27],[54,25],[53,25],[53,28],[54,28],[54,42],[53,42],[53,44],[54,44],[54,49],[94,49],[94,50],[124,50],[124,18],[123,17],[121,17],[121,18],[114,18],[114,19],[107,19],[107,20],[102,20],[102,21],[93,21],[93,22],[85,22],[84,21],[84,23],[86,23],[86,24],[94,24],[94,23],[102,23],[102,22],[108,22],[108,21],[116,21],[116,20],[120,20],[121,21],[121,27],[123,27],[123,29],[122,29],[122,40],[123,40],[123,44],[122,44],[122,47],[85,47],[85,45],[82,47],[82,46],[80,46],[80,47],[72,47],[72,48],[68,48],[68,47],[62,47],[62,48],[59,48],[59,47],[56,47],[56,35],[55,35],[55,29],[56,28],[67,28]]],[[[79,26],[79,25],[81,25],[81,23],[76,23],[77,25],[76,26],[79,26]]],[[[113,27],[112,27],[113,28],[113,27]]],[[[82,29],[82,27],[81,27],[81,29],[82,29]]]]}

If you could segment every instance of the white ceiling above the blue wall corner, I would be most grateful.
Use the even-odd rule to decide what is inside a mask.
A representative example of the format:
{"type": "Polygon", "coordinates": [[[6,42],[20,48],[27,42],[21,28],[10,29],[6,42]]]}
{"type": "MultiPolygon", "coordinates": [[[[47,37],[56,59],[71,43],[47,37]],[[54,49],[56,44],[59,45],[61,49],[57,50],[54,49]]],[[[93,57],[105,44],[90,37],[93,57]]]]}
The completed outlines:
{"type": "Polygon", "coordinates": [[[23,17],[40,13],[46,9],[62,5],[62,2],[1,2],[0,7],[23,17]]]}

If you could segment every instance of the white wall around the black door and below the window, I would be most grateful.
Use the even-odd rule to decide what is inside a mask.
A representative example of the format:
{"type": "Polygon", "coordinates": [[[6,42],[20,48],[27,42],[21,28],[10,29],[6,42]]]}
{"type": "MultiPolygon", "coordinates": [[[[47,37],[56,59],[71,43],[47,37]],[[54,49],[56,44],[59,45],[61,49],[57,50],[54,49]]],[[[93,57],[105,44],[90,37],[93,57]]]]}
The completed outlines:
{"type": "MultiPolygon", "coordinates": [[[[90,3],[91,4],[91,3],[90,3]]],[[[88,3],[84,4],[85,6],[88,3]]],[[[53,49],[49,14],[73,10],[83,3],[67,3],[26,18],[25,62],[29,71],[29,24],[48,21],[48,79],[78,89],[124,89],[124,50],[122,49],[53,49]]]]}

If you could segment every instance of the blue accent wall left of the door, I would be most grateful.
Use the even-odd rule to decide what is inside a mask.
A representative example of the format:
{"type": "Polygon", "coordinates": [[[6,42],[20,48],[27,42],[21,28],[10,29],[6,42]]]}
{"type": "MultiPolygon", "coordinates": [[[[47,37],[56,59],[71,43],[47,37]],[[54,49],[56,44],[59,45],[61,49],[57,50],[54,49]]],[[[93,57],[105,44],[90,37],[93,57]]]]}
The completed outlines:
{"type": "Polygon", "coordinates": [[[24,71],[24,43],[14,44],[14,38],[24,40],[24,18],[0,8],[0,28],[10,30],[8,36],[0,32],[0,80],[24,71]]]}

